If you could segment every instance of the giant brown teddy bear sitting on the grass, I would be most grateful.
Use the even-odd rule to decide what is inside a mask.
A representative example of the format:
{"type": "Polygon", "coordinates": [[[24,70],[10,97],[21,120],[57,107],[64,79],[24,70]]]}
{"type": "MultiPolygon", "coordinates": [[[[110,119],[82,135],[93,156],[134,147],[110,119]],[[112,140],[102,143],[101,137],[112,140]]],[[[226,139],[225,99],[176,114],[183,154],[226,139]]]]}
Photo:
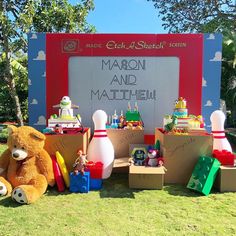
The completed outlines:
{"type": "Polygon", "coordinates": [[[51,158],[43,148],[45,136],[29,126],[8,130],[8,149],[0,157],[0,195],[30,204],[55,183],[51,158]]]}

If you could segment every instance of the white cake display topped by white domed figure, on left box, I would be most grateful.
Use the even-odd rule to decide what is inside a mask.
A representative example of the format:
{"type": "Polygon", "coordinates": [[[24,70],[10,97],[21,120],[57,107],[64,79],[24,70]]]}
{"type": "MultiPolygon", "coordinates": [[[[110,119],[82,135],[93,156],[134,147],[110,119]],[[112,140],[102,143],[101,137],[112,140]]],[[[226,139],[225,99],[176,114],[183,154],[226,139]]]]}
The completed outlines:
{"type": "Polygon", "coordinates": [[[64,96],[60,104],[54,105],[54,108],[59,108],[59,115],[53,114],[48,119],[48,127],[43,130],[46,134],[63,134],[83,132],[81,117],[79,114],[74,116],[73,109],[78,109],[79,106],[71,103],[68,96],[64,96]]]}

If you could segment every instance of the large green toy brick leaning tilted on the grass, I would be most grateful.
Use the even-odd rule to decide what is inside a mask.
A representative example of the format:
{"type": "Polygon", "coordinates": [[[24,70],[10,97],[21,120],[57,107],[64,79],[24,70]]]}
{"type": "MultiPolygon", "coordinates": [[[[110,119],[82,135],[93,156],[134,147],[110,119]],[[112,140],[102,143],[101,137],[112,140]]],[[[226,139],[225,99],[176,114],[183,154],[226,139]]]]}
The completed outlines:
{"type": "Polygon", "coordinates": [[[187,188],[208,195],[211,191],[220,162],[211,157],[202,156],[194,167],[187,188]]]}

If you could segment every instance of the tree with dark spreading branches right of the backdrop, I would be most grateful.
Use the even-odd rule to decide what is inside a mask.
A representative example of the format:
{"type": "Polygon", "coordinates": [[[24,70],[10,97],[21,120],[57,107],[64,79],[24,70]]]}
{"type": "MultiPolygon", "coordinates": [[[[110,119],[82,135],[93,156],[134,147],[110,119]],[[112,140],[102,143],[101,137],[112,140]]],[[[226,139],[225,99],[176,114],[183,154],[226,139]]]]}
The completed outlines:
{"type": "Polygon", "coordinates": [[[236,3],[235,0],[147,0],[154,2],[165,29],[172,33],[223,34],[221,98],[236,120],[236,3]]]}

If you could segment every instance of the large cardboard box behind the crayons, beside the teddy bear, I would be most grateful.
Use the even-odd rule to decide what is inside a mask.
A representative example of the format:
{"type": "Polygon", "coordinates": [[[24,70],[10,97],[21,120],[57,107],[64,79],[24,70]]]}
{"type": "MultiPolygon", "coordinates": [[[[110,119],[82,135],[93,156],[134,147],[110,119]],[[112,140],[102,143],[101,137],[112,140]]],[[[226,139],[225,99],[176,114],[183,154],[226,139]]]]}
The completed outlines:
{"type": "Polygon", "coordinates": [[[46,135],[44,148],[50,155],[55,155],[59,151],[63,156],[68,171],[72,171],[73,164],[77,156],[77,151],[81,149],[83,153],[87,152],[90,140],[90,129],[85,128],[83,134],[59,134],[46,135]]]}

